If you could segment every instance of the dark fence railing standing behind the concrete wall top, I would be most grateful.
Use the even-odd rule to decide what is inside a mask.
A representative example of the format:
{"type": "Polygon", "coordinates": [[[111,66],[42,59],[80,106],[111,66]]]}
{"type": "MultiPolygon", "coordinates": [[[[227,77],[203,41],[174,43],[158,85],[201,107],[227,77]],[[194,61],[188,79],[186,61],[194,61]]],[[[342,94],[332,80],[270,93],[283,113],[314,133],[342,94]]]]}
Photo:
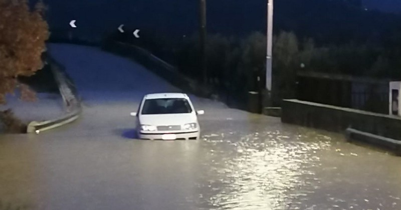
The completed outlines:
{"type": "Polygon", "coordinates": [[[388,83],[360,78],[299,77],[299,100],[388,114],[388,83]]]}

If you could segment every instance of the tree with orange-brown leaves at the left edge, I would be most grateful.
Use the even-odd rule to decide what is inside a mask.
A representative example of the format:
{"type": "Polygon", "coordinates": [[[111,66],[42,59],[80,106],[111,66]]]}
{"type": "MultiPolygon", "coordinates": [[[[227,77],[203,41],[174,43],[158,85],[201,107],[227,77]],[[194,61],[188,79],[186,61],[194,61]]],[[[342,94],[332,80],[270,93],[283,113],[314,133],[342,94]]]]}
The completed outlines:
{"type": "Polygon", "coordinates": [[[35,98],[17,77],[32,76],[44,66],[41,56],[49,38],[44,11],[42,2],[31,10],[26,0],[0,0],[0,104],[17,87],[22,99],[35,98]]]}

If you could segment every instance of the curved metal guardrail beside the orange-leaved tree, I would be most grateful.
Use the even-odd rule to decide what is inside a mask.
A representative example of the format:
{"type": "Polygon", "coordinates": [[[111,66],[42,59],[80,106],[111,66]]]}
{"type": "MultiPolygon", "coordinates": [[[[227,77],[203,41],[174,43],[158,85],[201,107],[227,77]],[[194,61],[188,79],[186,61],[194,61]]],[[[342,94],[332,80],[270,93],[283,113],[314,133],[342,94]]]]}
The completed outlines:
{"type": "Polygon", "coordinates": [[[51,65],[53,75],[59,86],[60,94],[63,98],[66,114],[63,116],[46,121],[32,121],[28,124],[27,133],[37,133],[42,131],[60,127],[71,123],[79,118],[82,108],[81,100],[78,97],[73,82],[62,71],[64,67],[58,64],[52,57],[48,56],[48,63],[51,65]]]}

